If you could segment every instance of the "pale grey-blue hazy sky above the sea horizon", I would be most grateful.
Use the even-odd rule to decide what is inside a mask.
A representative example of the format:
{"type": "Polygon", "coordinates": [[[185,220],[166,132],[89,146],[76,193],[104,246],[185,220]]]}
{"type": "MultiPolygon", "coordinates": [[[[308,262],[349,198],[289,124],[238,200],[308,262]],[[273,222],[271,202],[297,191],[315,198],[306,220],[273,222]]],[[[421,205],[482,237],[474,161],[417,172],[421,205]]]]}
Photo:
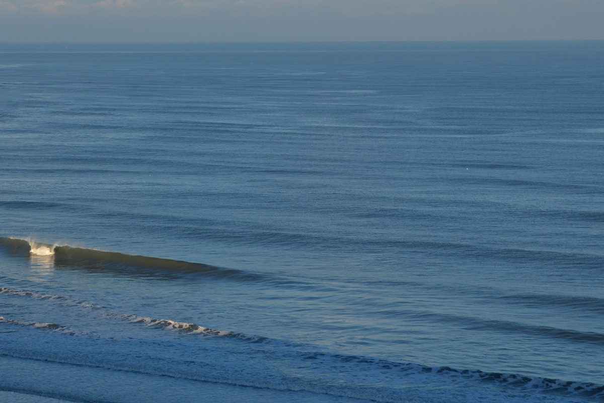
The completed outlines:
{"type": "Polygon", "coordinates": [[[0,42],[604,40],[604,0],[0,0],[0,42]]]}

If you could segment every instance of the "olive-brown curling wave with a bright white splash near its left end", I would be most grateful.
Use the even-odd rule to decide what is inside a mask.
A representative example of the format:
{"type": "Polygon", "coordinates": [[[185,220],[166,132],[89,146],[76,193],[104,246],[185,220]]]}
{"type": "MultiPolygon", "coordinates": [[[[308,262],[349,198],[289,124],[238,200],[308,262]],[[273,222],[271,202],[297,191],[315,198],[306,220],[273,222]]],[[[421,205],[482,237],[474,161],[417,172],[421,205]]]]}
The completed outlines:
{"type": "Polygon", "coordinates": [[[69,245],[50,245],[34,242],[30,239],[1,237],[0,247],[10,253],[19,255],[52,256],[54,265],[60,267],[85,268],[93,271],[115,271],[139,269],[149,272],[197,273],[220,278],[239,280],[259,280],[262,276],[236,269],[218,268],[202,263],[185,262],[184,260],[162,259],[131,255],[119,252],[108,252],[88,248],[76,248],[69,245]]]}

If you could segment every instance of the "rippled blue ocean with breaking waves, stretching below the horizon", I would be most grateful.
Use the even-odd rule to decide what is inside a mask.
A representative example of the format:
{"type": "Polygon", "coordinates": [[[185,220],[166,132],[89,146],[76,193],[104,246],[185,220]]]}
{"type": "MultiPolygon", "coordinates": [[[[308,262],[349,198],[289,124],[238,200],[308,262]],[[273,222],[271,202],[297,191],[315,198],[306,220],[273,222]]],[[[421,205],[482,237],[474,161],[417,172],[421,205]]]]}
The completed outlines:
{"type": "Polygon", "coordinates": [[[0,400],[604,402],[604,42],[0,44],[0,400]]]}

